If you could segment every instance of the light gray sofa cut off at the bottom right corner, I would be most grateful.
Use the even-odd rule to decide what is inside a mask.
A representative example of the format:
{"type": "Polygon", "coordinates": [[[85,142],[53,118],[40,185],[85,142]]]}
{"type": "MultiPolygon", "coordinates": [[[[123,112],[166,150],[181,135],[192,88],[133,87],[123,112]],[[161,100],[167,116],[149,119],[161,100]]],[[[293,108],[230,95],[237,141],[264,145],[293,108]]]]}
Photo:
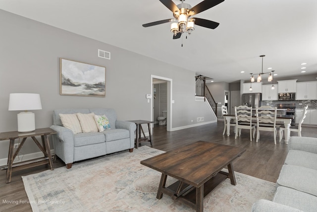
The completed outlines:
{"type": "Polygon", "coordinates": [[[317,138],[291,137],[288,148],[273,200],[253,212],[317,212],[317,138]]]}

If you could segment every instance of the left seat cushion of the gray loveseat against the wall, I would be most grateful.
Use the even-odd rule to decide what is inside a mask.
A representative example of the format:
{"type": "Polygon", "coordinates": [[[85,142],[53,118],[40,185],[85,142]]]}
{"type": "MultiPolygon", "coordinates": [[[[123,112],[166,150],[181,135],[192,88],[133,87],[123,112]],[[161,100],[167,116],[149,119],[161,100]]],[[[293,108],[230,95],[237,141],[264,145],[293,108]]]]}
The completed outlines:
{"type": "Polygon", "coordinates": [[[102,133],[79,133],[74,135],[74,146],[84,146],[105,142],[105,135],[102,133]]]}

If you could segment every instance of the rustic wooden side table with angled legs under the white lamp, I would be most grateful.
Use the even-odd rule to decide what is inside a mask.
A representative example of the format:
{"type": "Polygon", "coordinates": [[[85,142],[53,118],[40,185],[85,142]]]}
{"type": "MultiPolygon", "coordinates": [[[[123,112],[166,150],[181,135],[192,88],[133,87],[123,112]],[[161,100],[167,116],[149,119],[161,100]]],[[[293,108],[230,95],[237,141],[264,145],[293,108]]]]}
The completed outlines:
{"type": "Polygon", "coordinates": [[[54,170],[50,143],[48,139],[48,136],[53,134],[56,134],[56,132],[51,128],[36,129],[35,131],[28,133],[20,133],[17,131],[0,133],[0,141],[10,140],[8,162],[6,166],[1,167],[2,170],[6,169],[6,183],[11,182],[12,171],[23,170],[43,164],[50,164],[51,170],[54,170]],[[36,136],[41,136],[43,145],[41,145],[40,142],[35,138],[36,136]],[[23,146],[24,142],[28,137],[31,137],[33,141],[38,145],[38,147],[44,153],[44,157],[17,162],[13,164],[13,160],[18,155],[21,147],[23,146]],[[22,139],[16,151],[14,151],[15,139],[22,139]]]}

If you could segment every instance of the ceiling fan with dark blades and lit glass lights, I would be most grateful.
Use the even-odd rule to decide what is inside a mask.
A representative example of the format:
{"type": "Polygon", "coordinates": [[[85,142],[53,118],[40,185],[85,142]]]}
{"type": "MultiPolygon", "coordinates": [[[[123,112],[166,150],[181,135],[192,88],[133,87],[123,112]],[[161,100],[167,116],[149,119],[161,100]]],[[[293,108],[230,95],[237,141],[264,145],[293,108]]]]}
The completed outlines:
{"type": "Polygon", "coordinates": [[[142,26],[149,27],[159,25],[162,23],[172,22],[170,31],[173,33],[173,39],[178,39],[184,32],[191,34],[192,31],[195,29],[195,24],[206,28],[215,29],[219,25],[219,23],[191,16],[196,15],[207,9],[210,9],[211,7],[221,3],[224,0],[204,0],[194,7],[192,7],[188,3],[184,3],[184,0],[180,0],[182,3],[178,5],[176,5],[172,0],[159,1],[162,2],[169,10],[173,12],[174,18],[146,23],[142,26]]]}

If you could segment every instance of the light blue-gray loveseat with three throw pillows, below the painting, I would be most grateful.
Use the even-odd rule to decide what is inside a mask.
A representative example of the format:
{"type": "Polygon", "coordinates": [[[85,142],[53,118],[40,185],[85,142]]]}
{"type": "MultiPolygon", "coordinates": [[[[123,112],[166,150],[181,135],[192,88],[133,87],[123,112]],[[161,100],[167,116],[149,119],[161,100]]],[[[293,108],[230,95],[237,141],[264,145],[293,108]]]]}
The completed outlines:
{"type": "Polygon", "coordinates": [[[57,109],[53,111],[53,135],[55,154],[62,159],[67,168],[72,163],[117,151],[134,148],[136,125],[132,122],[117,120],[113,109],[57,109]],[[103,132],[78,133],[63,127],[59,114],[94,113],[106,115],[110,123],[110,130],[103,132]]]}

